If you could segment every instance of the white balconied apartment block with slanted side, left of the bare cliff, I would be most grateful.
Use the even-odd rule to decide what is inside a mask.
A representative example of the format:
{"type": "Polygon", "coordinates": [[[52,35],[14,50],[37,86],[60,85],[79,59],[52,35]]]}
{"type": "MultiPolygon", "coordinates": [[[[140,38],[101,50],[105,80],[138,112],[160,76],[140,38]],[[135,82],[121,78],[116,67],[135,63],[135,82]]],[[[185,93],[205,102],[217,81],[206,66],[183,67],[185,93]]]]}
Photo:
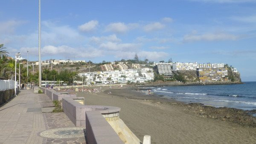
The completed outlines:
{"type": "Polygon", "coordinates": [[[159,75],[172,76],[172,63],[156,63],[155,69],[159,75]]]}

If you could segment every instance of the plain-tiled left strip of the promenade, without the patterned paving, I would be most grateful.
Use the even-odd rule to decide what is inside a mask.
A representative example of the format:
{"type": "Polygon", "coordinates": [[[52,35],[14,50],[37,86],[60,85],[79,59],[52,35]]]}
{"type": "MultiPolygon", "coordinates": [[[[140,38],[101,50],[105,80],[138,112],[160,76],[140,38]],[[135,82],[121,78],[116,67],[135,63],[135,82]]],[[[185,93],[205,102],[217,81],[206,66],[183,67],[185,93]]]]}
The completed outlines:
{"type": "Polygon", "coordinates": [[[20,94],[0,107],[0,143],[42,143],[37,133],[45,130],[41,112],[27,112],[40,108],[38,94],[21,90],[20,94]]]}

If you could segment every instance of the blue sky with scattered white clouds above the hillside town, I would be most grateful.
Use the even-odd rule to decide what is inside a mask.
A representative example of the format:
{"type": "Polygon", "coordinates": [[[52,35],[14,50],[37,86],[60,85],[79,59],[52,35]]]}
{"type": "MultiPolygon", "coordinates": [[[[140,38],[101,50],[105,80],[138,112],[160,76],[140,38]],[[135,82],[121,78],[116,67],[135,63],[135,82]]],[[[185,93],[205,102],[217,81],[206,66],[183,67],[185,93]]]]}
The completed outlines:
{"type": "MultiPolygon", "coordinates": [[[[38,60],[38,0],[0,0],[0,43],[38,60]]],[[[41,60],[227,63],[256,81],[256,0],[41,0],[41,60]]]]}

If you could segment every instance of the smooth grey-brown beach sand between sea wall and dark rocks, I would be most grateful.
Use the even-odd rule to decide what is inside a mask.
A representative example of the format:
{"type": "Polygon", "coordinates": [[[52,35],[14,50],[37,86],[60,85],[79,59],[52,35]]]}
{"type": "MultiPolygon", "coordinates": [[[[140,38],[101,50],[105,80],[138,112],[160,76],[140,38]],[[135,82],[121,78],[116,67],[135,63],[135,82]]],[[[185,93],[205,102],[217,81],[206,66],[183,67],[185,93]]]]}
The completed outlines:
{"type": "Polygon", "coordinates": [[[184,110],[182,104],[159,96],[128,89],[107,89],[105,86],[102,87],[105,92],[75,93],[84,96],[87,105],[120,107],[120,118],[141,141],[144,135],[151,135],[152,144],[256,143],[255,127],[203,118],[184,110]],[[107,94],[109,91],[112,94],[107,94]]]}

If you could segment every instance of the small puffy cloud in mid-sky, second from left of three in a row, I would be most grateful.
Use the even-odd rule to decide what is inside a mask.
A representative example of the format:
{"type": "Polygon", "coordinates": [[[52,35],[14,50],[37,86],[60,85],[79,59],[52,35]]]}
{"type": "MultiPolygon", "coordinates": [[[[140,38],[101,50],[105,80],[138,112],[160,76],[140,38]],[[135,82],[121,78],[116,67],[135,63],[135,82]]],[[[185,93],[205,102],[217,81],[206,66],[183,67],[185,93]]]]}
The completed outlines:
{"type": "Polygon", "coordinates": [[[125,33],[129,30],[125,23],[110,23],[106,26],[106,32],[125,33]]]}

